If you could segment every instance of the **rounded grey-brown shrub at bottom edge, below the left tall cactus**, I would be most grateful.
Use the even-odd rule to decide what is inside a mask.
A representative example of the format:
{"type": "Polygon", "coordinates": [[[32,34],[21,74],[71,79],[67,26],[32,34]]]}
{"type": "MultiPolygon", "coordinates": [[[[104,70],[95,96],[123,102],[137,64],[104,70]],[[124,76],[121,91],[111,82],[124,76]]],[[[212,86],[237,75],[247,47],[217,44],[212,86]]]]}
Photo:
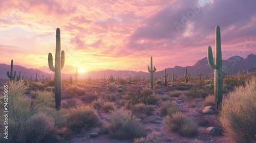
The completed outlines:
{"type": "Polygon", "coordinates": [[[57,139],[57,128],[54,119],[45,113],[37,113],[23,124],[24,142],[50,142],[57,139]]]}

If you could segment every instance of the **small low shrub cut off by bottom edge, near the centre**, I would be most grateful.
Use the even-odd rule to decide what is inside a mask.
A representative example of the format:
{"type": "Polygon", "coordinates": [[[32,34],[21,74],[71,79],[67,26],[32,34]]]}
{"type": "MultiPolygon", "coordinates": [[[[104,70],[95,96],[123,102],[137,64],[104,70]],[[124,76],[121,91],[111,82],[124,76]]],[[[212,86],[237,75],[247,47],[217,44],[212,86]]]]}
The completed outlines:
{"type": "Polygon", "coordinates": [[[151,134],[147,134],[146,137],[134,138],[133,143],[157,143],[158,138],[161,136],[160,132],[152,132],[151,134]]]}

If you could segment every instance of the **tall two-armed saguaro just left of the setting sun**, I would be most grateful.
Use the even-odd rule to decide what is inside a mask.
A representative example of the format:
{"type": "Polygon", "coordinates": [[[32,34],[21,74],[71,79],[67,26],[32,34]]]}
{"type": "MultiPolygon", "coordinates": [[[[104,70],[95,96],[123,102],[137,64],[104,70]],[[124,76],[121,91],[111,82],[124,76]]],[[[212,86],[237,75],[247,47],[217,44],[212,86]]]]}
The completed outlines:
{"type": "Polygon", "coordinates": [[[52,53],[48,55],[48,65],[49,68],[54,71],[54,91],[55,91],[55,108],[60,109],[61,103],[61,72],[60,69],[63,68],[65,63],[65,52],[61,51],[60,56],[60,30],[56,30],[56,52],[55,52],[55,66],[53,66],[52,53]]]}

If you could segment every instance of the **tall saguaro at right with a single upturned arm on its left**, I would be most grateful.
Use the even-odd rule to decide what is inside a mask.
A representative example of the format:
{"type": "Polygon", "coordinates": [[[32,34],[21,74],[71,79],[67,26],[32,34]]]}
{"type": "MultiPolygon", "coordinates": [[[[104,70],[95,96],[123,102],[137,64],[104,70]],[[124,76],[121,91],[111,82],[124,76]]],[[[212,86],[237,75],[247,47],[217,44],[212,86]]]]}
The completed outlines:
{"type": "Polygon", "coordinates": [[[222,58],[221,58],[221,32],[220,27],[216,27],[215,39],[215,63],[212,57],[211,46],[207,49],[207,59],[209,66],[214,69],[214,94],[215,94],[215,112],[219,114],[222,103],[222,86],[223,86],[223,73],[222,73],[222,58]]]}

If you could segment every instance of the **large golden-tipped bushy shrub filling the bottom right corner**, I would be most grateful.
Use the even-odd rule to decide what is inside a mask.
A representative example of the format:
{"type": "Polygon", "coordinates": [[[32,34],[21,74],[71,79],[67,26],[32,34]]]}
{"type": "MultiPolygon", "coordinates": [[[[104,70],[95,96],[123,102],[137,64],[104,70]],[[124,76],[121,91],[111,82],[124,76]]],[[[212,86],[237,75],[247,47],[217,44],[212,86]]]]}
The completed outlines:
{"type": "Polygon", "coordinates": [[[219,121],[233,142],[256,142],[256,78],[236,87],[222,105],[219,121]]]}

